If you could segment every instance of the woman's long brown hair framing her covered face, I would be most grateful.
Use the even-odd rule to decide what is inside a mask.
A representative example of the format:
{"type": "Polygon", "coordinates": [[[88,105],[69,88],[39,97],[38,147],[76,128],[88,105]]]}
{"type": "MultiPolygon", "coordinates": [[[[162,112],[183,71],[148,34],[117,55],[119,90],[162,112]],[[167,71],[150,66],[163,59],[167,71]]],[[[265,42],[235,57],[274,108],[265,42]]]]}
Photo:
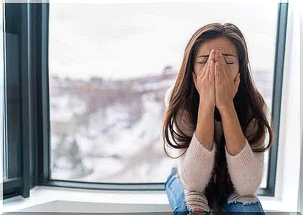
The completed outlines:
{"type": "MultiPolygon", "coordinates": [[[[267,119],[269,109],[251,77],[247,46],[240,29],[232,23],[210,23],[198,29],[187,43],[180,71],[175,85],[172,88],[171,96],[169,97],[169,105],[165,110],[162,138],[164,140],[165,154],[170,158],[174,157],[171,157],[167,153],[165,144],[168,144],[170,148],[174,149],[187,149],[192,139],[192,136],[184,132],[181,125],[178,125],[177,115],[180,114],[180,112],[183,113],[185,110],[188,113],[188,120],[191,125],[193,125],[193,128],[196,128],[197,126],[200,99],[192,79],[196,49],[201,43],[218,37],[227,38],[237,48],[239,56],[240,85],[233,99],[233,103],[241,129],[244,131],[243,133],[245,134],[252,151],[264,152],[273,144],[274,134],[272,129],[272,116],[269,114],[271,122],[269,125],[267,119]],[[177,131],[174,130],[173,125],[176,126],[177,131]],[[251,128],[249,125],[253,125],[253,131],[250,129],[250,132],[248,132],[249,128],[251,128]],[[269,141],[265,147],[264,140],[266,129],[269,133],[269,141]],[[169,134],[177,145],[172,144],[169,139],[169,134]]],[[[214,113],[215,115],[219,114],[217,108],[215,108],[214,113]]],[[[222,202],[224,197],[234,189],[227,169],[224,133],[222,134],[218,146],[218,151],[215,154],[214,171],[204,192],[210,205],[212,204],[211,197],[215,196],[219,202],[222,202]],[[216,177],[214,177],[214,174],[216,174],[216,177]]],[[[184,153],[185,152],[186,151],[184,151],[184,153]]],[[[175,158],[179,158],[180,156],[175,158]]]]}

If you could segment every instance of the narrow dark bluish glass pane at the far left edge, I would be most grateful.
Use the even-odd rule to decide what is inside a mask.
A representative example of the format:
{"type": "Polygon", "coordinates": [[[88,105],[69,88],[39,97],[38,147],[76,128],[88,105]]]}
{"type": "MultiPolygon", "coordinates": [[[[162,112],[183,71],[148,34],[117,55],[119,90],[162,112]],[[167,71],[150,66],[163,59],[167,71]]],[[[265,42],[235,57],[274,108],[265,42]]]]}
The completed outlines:
{"type": "Polygon", "coordinates": [[[5,180],[20,177],[19,146],[20,146],[20,88],[19,88],[19,58],[18,35],[5,33],[5,141],[4,171],[5,180]]]}

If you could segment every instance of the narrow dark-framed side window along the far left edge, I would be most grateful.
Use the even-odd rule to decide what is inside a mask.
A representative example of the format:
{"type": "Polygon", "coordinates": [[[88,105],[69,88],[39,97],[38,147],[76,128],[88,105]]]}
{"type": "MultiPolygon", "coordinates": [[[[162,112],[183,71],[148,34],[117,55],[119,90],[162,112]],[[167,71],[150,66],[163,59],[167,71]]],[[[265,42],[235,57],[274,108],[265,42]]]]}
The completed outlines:
{"type": "MultiPolygon", "coordinates": [[[[16,14],[19,14],[13,19],[11,8],[3,8],[1,5],[1,14],[5,11],[6,23],[17,23],[21,14],[21,7],[16,7],[16,14]],[[5,10],[6,9],[6,10],[5,10]]],[[[1,16],[3,17],[3,16],[1,16]]],[[[1,35],[1,48],[4,47],[3,55],[1,55],[1,96],[3,103],[1,110],[3,118],[1,119],[2,129],[1,135],[3,145],[1,148],[3,162],[3,196],[13,196],[21,192],[21,162],[20,162],[20,147],[21,147],[21,109],[20,109],[20,45],[21,38],[18,35],[18,30],[13,26],[3,26],[1,21],[1,31],[5,27],[4,37],[1,35]],[[4,45],[4,46],[3,46],[4,45]],[[5,71],[4,73],[2,71],[5,71]]],[[[21,30],[21,29],[20,29],[21,30]]]]}

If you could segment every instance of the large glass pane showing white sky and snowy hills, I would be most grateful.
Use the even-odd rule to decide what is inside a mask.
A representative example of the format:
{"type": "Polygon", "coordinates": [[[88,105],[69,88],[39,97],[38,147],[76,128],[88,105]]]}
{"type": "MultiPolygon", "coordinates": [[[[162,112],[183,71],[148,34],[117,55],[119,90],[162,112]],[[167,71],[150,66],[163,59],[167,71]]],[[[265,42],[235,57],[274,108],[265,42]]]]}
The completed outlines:
{"type": "Polygon", "coordinates": [[[164,182],[172,162],[160,139],[164,93],[191,35],[210,22],[240,27],[271,109],[277,10],[273,2],[51,3],[51,178],[164,182]]]}

